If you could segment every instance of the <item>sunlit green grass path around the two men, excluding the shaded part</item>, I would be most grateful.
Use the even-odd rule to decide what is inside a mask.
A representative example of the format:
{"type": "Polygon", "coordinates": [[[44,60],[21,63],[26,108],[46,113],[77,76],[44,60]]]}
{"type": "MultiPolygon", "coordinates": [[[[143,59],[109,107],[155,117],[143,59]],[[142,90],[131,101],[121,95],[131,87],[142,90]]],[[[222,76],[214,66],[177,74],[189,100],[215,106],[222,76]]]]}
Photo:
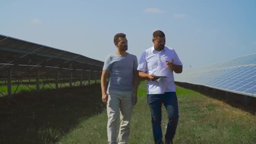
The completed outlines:
{"type": "MultiPolygon", "coordinates": [[[[177,144],[253,144],[256,143],[256,116],[235,109],[192,90],[176,86],[179,124],[174,138],[177,144]]],[[[154,144],[151,114],[147,106],[146,83],[139,85],[139,99],[133,110],[129,144],[154,144]]],[[[167,115],[163,107],[162,128],[167,115]]],[[[107,144],[106,111],[83,120],[58,144],[107,144]]]]}

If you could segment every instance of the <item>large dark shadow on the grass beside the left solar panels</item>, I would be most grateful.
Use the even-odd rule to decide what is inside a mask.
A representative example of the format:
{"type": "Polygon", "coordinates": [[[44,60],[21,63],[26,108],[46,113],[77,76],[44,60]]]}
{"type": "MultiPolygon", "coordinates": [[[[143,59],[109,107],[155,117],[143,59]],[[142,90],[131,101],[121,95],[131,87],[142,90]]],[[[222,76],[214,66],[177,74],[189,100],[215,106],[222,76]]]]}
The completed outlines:
{"type": "Polygon", "coordinates": [[[104,108],[99,84],[0,97],[0,143],[55,143],[104,108]]]}

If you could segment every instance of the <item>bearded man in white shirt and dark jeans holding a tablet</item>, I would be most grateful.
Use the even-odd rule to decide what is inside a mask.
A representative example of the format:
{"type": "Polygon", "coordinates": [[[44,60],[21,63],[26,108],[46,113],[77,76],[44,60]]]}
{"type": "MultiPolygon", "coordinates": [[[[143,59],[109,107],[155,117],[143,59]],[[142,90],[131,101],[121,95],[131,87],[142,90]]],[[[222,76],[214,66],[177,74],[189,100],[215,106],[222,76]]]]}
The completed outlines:
{"type": "Polygon", "coordinates": [[[172,144],[176,132],[179,109],[173,71],[182,72],[182,63],[173,48],[165,46],[165,34],[153,33],[153,47],[144,51],[139,60],[139,77],[147,79],[147,103],[152,117],[155,144],[163,144],[161,128],[162,104],[168,114],[165,144],[172,144]],[[161,76],[160,78],[157,76],[161,76]]]}

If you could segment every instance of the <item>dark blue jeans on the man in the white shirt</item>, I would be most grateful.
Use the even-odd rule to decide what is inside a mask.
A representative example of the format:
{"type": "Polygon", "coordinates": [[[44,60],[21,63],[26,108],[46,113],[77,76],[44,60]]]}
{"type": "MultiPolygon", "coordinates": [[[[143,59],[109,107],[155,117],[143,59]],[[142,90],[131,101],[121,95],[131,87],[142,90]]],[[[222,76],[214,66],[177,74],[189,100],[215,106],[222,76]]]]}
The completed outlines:
{"type": "Polygon", "coordinates": [[[151,111],[155,144],[163,144],[163,135],[161,128],[162,104],[165,106],[168,115],[168,124],[165,133],[165,140],[172,141],[179,120],[179,109],[176,92],[165,92],[163,94],[148,94],[147,103],[151,111]]]}

